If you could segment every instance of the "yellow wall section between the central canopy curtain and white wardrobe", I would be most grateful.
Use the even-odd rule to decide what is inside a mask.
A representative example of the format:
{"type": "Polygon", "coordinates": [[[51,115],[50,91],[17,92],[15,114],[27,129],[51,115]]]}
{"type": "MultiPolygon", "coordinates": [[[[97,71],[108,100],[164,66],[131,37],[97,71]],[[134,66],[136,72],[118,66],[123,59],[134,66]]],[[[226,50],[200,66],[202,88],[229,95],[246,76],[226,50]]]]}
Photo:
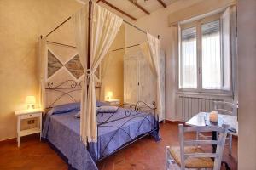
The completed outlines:
{"type": "MultiPolygon", "coordinates": [[[[121,26],[117,37],[109,51],[125,47],[125,26],[121,26]]],[[[110,52],[102,61],[102,96],[108,91],[113,92],[113,99],[120,99],[123,102],[124,98],[124,57],[125,50],[110,52]]]]}

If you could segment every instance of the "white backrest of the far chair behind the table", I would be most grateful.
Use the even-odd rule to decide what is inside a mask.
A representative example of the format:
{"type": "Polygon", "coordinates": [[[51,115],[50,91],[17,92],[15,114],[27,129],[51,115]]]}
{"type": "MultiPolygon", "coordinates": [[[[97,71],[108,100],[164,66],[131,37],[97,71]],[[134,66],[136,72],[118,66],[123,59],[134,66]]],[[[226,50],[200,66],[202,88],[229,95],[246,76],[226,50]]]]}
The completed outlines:
{"type": "Polygon", "coordinates": [[[214,101],[213,104],[218,113],[237,116],[238,105],[226,101],[214,101]]]}

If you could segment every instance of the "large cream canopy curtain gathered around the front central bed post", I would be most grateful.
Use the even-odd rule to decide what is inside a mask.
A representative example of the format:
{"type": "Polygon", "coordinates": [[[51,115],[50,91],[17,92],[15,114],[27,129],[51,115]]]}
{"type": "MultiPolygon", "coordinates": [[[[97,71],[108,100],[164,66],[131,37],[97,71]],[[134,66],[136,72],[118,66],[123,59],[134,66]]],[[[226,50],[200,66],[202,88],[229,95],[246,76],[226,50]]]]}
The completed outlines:
{"type": "MultiPolygon", "coordinates": [[[[79,50],[79,59],[87,70],[87,28],[88,28],[88,4],[82,8],[79,13],[73,15],[75,22],[76,43],[79,50]],[[85,41],[85,42],[84,42],[85,41]]],[[[84,144],[87,142],[96,142],[97,122],[96,122],[96,93],[94,73],[100,65],[102,59],[108,53],[114,38],[116,37],[123,20],[119,16],[112,14],[107,9],[92,3],[92,26],[90,41],[90,69],[87,75],[84,73],[84,82],[89,82],[87,92],[87,83],[83,84],[81,98],[81,118],[80,134],[84,144]],[[88,93],[88,94],[87,94],[88,93]]]]}

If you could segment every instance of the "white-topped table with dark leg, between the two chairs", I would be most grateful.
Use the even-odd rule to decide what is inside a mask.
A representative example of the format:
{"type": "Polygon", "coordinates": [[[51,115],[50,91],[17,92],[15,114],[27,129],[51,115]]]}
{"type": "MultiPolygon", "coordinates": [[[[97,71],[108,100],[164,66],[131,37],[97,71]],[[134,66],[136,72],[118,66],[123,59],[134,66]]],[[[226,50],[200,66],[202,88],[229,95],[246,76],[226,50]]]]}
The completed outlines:
{"type": "MultiPolygon", "coordinates": [[[[189,126],[195,126],[195,127],[205,127],[207,126],[206,119],[208,118],[209,113],[208,112],[200,112],[197,115],[193,116],[189,119],[189,121],[186,122],[186,125],[189,126]]],[[[229,124],[230,127],[236,129],[236,133],[232,133],[232,135],[238,136],[238,121],[237,116],[230,116],[230,115],[222,115],[218,114],[218,120],[221,119],[222,124],[229,124]]],[[[211,126],[219,126],[221,127],[221,123],[218,123],[216,125],[211,124],[211,126]]],[[[231,132],[228,132],[231,133],[231,132]]],[[[212,132],[212,140],[217,140],[217,133],[212,132]]],[[[216,145],[212,145],[212,152],[216,152],[216,145]]],[[[226,169],[230,169],[227,162],[222,161],[226,167],[226,169]]]]}

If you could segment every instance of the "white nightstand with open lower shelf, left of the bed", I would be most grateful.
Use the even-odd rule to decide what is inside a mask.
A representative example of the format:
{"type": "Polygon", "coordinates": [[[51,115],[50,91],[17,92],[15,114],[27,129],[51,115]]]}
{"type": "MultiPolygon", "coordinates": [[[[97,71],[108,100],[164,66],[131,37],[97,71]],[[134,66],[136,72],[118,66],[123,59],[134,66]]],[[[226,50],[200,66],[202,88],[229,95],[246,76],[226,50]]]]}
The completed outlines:
{"type": "Polygon", "coordinates": [[[40,140],[41,140],[41,130],[42,130],[42,109],[30,109],[30,110],[22,110],[22,111],[15,111],[15,116],[18,116],[17,119],[17,141],[18,147],[20,147],[20,137],[26,136],[33,133],[40,133],[40,140]],[[30,118],[38,118],[38,126],[26,130],[21,130],[21,121],[24,119],[30,118]]]}

